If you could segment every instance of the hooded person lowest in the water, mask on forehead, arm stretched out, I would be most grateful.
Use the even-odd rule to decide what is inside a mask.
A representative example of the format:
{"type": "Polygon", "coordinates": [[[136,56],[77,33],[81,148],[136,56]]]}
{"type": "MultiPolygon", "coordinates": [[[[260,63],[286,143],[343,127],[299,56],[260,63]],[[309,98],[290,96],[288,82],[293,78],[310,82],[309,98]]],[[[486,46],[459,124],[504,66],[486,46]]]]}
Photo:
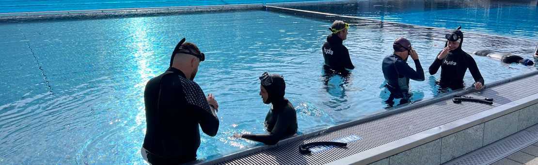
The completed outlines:
{"type": "Polygon", "coordinates": [[[278,141],[297,133],[297,115],[291,102],[284,98],[286,90],[284,77],[265,72],[260,80],[261,98],[265,104],[273,105],[265,117],[265,128],[269,133],[233,136],[262,142],[266,145],[275,145],[278,141]]]}

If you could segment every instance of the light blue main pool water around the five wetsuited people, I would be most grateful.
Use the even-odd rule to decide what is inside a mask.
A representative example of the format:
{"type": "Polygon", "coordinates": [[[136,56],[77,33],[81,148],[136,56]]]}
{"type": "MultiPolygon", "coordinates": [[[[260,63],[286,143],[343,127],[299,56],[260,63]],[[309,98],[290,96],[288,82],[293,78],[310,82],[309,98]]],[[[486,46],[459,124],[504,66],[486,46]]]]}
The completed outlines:
{"type": "MultiPolygon", "coordinates": [[[[221,107],[217,136],[202,135],[197,152],[199,159],[212,159],[259,145],[230,136],[264,132],[269,107],[258,95],[261,73],[284,75],[302,134],[386,111],[380,62],[392,52],[394,38],[408,36],[426,68],[444,46],[446,32],[352,22],[344,44],[357,68],[343,83],[338,75],[322,74],[321,45],[329,25],[262,10],[2,23],[0,163],[141,164],[145,83],[166,70],[181,37],[206,53],[195,80],[221,107]],[[193,25],[197,20],[204,23],[193,25]]],[[[535,46],[520,39],[466,37],[465,51],[530,54],[535,46]]],[[[475,60],[486,85],[536,70],[475,60]]],[[[437,95],[438,78],[412,81],[413,101],[437,95]]],[[[469,73],[465,82],[472,83],[469,73]]]]}

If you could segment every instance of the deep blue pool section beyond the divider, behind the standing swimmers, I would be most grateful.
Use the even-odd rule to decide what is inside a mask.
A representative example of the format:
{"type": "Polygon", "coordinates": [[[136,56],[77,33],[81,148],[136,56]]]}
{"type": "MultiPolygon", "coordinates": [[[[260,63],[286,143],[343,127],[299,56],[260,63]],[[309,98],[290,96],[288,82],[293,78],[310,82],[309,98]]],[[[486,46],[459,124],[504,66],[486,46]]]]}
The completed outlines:
{"type": "Polygon", "coordinates": [[[302,5],[295,9],[399,22],[435,28],[538,38],[536,0],[523,1],[352,1],[342,4],[302,5]]]}

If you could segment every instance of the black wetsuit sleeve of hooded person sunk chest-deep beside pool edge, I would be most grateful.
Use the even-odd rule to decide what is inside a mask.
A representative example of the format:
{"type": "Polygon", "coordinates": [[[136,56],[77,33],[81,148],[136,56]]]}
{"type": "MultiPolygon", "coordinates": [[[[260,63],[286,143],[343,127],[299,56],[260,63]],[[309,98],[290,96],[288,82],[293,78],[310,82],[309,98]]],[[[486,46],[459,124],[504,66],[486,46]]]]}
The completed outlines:
{"type": "Polygon", "coordinates": [[[244,134],[242,138],[262,142],[266,145],[275,145],[282,138],[285,138],[288,126],[292,125],[293,116],[289,112],[282,112],[279,114],[277,123],[269,134],[244,134]]]}

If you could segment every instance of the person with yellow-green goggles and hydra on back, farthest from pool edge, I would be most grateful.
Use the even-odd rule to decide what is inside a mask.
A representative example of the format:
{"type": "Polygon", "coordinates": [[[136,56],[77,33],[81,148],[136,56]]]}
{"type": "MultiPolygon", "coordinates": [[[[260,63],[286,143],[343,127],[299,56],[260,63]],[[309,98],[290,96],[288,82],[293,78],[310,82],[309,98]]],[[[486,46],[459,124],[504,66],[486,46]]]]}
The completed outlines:
{"type": "Polygon", "coordinates": [[[351,63],[348,49],[342,45],[348,36],[348,29],[349,24],[342,20],[335,20],[329,28],[332,33],[327,36],[327,42],[323,44],[322,51],[325,65],[332,70],[343,71],[355,68],[351,63]]]}

